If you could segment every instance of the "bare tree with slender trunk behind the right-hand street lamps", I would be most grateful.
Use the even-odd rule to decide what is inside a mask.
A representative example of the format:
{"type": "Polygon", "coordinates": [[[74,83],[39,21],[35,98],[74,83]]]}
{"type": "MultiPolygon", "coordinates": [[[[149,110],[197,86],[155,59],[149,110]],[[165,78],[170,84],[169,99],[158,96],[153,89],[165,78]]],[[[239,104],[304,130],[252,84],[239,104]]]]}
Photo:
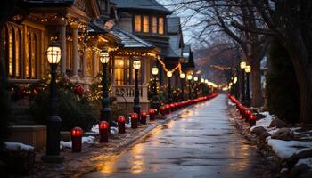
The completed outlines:
{"type": "MultiPolygon", "coordinates": [[[[262,20],[255,6],[249,0],[184,0],[172,4],[180,9],[192,10],[190,18],[195,14],[200,20],[193,23],[190,28],[199,27],[195,35],[201,40],[206,40],[212,34],[226,33],[236,44],[239,44],[252,67],[251,106],[262,105],[262,91],[260,81],[260,61],[267,52],[271,36],[274,34],[262,20]],[[259,29],[250,31],[250,29],[259,29]],[[203,39],[202,39],[203,38],[203,39]]],[[[188,18],[187,20],[190,20],[188,18]]]]}

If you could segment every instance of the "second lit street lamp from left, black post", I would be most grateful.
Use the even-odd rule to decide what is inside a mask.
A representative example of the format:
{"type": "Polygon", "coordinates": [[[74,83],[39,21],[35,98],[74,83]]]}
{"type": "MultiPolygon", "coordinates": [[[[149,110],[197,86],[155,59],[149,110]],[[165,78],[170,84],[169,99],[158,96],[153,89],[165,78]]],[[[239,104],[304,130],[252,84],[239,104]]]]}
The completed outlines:
{"type": "Polygon", "coordinates": [[[111,107],[109,98],[109,88],[108,88],[108,73],[107,66],[110,60],[110,55],[106,49],[103,49],[100,53],[100,61],[103,64],[103,96],[102,96],[102,109],[101,109],[101,121],[106,121],[109,123],[109,133],[111,132],[111,107]]]}

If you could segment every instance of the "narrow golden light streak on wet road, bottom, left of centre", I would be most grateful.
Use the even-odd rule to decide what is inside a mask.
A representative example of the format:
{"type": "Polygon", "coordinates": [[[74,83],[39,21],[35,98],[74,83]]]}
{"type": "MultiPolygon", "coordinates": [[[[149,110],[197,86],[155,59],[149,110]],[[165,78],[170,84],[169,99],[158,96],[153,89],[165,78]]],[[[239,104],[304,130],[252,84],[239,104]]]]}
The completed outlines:
{"type": "Polygon", "coordinates": [[[139,174],[143,172],[145,169],[144,161],[142,158],[142,152],[143,152],[142,144],[135,145],[135,147],[130,151],[131,158],[133,158],[133,162],[131,165],[131,173],[133,174],[139,174]]]}

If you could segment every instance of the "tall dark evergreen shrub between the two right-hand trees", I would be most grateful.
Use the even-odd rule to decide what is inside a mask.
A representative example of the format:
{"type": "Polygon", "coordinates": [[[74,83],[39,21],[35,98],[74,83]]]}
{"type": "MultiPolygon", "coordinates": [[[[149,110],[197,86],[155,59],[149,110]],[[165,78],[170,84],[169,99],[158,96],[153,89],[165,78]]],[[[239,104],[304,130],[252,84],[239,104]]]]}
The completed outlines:
{"type": "Polygon", "coordinates": [[[288,53],[277,40],[270,47],[271,70],[267,74],[267,109],[287,122],[298,122],[300,93],[288,53]]]}

